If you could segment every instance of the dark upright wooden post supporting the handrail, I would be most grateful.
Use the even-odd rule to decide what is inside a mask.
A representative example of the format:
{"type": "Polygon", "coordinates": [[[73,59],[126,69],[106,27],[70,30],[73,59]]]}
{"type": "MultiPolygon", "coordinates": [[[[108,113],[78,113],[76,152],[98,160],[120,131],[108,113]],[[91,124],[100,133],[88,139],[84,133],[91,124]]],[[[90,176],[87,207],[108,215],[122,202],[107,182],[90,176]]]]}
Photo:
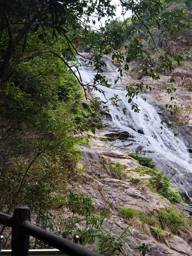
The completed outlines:
{"type": "Polygon", "coordinates": [[[30,221],[29,207],[16,208],[12,221],[11,256],[28,256],[29,235],[23,231],[21,224],[23,221],[30,221]]]}

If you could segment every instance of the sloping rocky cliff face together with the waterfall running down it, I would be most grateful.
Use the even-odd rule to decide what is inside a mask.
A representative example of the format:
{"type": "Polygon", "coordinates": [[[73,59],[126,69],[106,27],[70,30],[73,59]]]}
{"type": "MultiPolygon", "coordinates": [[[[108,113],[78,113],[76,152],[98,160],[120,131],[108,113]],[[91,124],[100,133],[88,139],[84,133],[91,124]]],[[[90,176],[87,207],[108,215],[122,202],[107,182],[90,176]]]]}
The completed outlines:
{"type": "MultiPolygon", "coordinates": [[[[105,57],[105,62],[107,63],[106,79],[112,84],[112,89],[105,89],[105,91],[107,90],[106,95],[110,98],[114,89],[114,92],[120,94],[119,98],[122,101],[119,108],[113,109],[111,106],[110,114],[104,115],[106,128],[96,133],[95,139],[90,141],[90,147],[82,148],[83,163],[87,165],[89,173],[86,189],[83,187],[82,189],[85,193],[98,195],[96,199],[98,210],[103,209],[107,198],[109,198],[112,202],[111,211],[114,212],[111,222],[114,221],[117,230],[124,230],[131,223],[130,225],[133,226],[131,232],[134,233],[134,236],[131,236],[132,242],[129,242],[129,246],[135,255],[140,255],[135,247],[142,243],[152,244],[153,255],[192,255],[190,243],[192,210],[190,206],[181,203],[172,204],[147,188],[146,184],[150,184],[151,176],[138,172],[142,167],[126,154],[135,152],[151,157],[162,172],[169,176],[172,184],[179,189],[185,200],[192,203],[192,106],[191,92],[187,87],[192,75],[177,69],[170,74],[170,77],[176,79],[176,83],[171,85],[167,74],[161,75],[161,80],[153,81],[149,77],[140,77],[139,74],[131,72],[119,79],[114,88],[114,80],[118,76],[117,67],[111,64],[109,57],[105,57]],[[152,91],[148,92],[148,95],[144,93],[140,95],[140,97],[146,98],[146,103],[143,104],[144,101],[139,97],[141,114],[138,116],[136,113],[134,116],[126,105],[127,99],[124,100],[125,96],[120,93],[120,89],[123,89],[128,83],[140,83],[141,78],[145,85],[148,84],[152,87],[152,91]],[[170,95],[166,91],[172,86],[176,87],[177,91],[174,93],[175,99],[172,102],[173,116],[170,116],[164,106],[170,102],[170,95]],[[125,116],[121,114],[123,107],[127,111],[125,116]],[[165,124],[162,133],[159,132],[161,121],[165,124]],[[171,129],[167,127],[170,122],[173,123],[171,129]],[[178,134],[177,138],[174,137],[174,133],[178,134]],[[110,166],[119,163],[124,167],[125,176],[114,175],[110,169],[110,166]],[[157,223],[154,223],[153,227],[153,224],[149,223],[150,221],[142,222],[138,216],[131,220],[125,218],[122,215],[122,207],[134,209],[138,216],[139,214],[148,217],[155,216],[159,220],[161,219],[159,212],[175,209],[176,212],[181,212],[185,216],[189,223],[189,232],[175,232],[163,225],[161,226],[163,227],[162,232],[157,234],[153,232],[157,223]]],[[[134,63],[131,64],[130,69],[134,69],[134,63]]],[[[84,67],[81,74],[83,79],[90,83],[94,71],[90,67],[84,67]]],[[[101,97],[96,91],[94,93],[97,97],[101,97]]]]}

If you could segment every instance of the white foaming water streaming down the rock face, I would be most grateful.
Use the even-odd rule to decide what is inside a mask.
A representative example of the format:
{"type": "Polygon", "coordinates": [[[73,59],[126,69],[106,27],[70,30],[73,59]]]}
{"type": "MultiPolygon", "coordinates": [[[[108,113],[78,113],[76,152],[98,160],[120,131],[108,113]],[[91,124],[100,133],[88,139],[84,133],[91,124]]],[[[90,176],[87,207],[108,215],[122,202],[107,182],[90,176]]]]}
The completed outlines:
{"type": "MultiPolygon", "coordinates": [[[[95,72],[91,67],[82,66],[79,68],[82,80],[85,83],[91,83],[93,81],[95,72]]],[[[113,67],[108,67],[108,71],[105,72],[106,79],[114,85],[114,81],[118,75],[117,70],[113,67]]],[[[121,86],[122,83],[117,83],[116,88],[121,86]]],[[[147,150],[152,150],[156,157],[163,158],[164,161],[177,162],[180,166],[184,167],[187,172],[192,172],[191,158],[187,147],[184,143],[174,137],[174,134],[170,129],[163,125],[163,130],[160,129],[161,119],[152,105],[144,101],[138,96],[134,98],[131,104],[128,104],[128,98],[125,97],[126,92],[113,88],[106,88],[100,86],[106,93],[105,96],[97,90],[92,91],[96,97],[99,97],[101,101],[108,101],[110,105],[110,114],[113,122],[119,126],[122,130],[128,131],[142,146],[147,150]],[[110,98],[114,94],[118,94],[122,101],[119,101],[119,107],[111,105],[110,98]],[[135,113],[131,110],[132,104],[139,106],[140,112],[135,113]],[[124,115],[122,108],[126,109],[124,115]],[[135,127],[134,131],[132,128],[135,127]],[[137,128],[141,127],[144,134],[137,132],[137,128]]],[[[179,173],[179,170],[177,168],[179,173]]]]}

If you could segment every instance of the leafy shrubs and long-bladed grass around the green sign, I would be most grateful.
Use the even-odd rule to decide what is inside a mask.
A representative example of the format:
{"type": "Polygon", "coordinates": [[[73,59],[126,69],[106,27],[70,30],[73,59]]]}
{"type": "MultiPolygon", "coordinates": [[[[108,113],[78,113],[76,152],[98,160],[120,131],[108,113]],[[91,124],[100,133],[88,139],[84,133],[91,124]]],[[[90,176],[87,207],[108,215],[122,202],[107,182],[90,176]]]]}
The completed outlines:
{"type": "Polygon", "coordinates": [[[130,255],[132,255],[131,249],[127,244],[128,241],[130,242],[129,237],[132,236],[132,233],[129,232],[131,227],[128,226],[125,230],[119,231],[114,227],[114,220],[110,221],[114,214],[111,213],[113,201],[110,203],[108,198],[103,210],[99,213],[99,215],[93,215],[93,213],[89,211],[92,208],[92,203],[90,201],[91,197],[86,196],[86,198],[83,198],[82,194],[79,194],[79,192],[73,192],[70,190],[68,196],[69,201],[67,200],[66,202],[67,205],[71,202],[71,193],[73,197],[72,201],[77,203],[77,207],[80,207],[79,217],[73,216],[63,219],[63,221],[60,223],[61,227],[65,228],[63,236],[67,237],[68,239],[72,239],[74,231],[78,235],[83,234],[85,236],[98,232],[100,240],[98,252],[100,254],[107,256],[118,256],[120,253],[122,255],[128,255],[127,253],[130,251],[130,255]],[[84,200],[87,202],[87,211],[81,211],[83,205],[80,202],[80,204],[78,203],[79,200],[84,200]],[[79,224],[81,225],[81,228],[79,228],[79,224]]]}

